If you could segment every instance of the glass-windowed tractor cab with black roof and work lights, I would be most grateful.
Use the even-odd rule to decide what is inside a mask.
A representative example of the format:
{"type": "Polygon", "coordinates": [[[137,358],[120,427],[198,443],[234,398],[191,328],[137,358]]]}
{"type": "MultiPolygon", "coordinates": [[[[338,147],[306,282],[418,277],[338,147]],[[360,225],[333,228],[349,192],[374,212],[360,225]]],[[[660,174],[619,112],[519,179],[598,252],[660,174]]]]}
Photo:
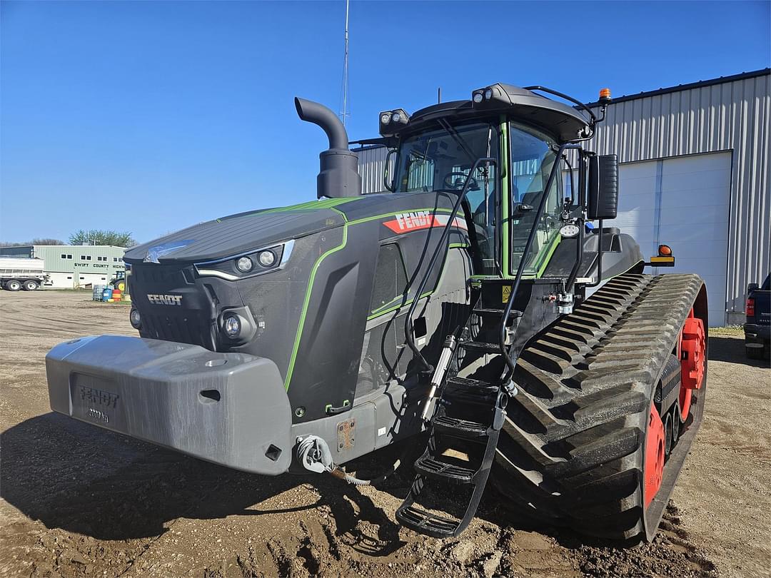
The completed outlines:
{"type": "MultiPolygon", "coordinates": [[[[476,277],[514,277],[532,231],[523,274],[540,277],[561,228],[576,222],[580,200],[572,191],[566,200],[562,171],[570,168],[567,149],[591,135],[592,118],[500,83],[473,91],[470,100],[429,106],[412,116],[403,109],[385,111],[380,133],[392,147],[385,187],[463,193],[476,277]]],[[[588,159],[579,156],[579,163],[588,159]]]]}

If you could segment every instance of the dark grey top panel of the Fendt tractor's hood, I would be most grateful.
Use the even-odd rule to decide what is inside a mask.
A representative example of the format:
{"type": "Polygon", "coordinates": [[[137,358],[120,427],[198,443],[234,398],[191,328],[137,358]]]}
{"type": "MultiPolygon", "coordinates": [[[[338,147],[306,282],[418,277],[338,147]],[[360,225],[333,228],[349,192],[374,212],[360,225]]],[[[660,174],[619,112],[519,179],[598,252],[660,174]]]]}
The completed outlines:
{"type": "MultiPolygon", "coordinates": [[[[344,223],[411,210],[448,210],[447,193],[382,193],[238,213],[187,227],[126,251],[127,263],[173,264],[224,259],[344,223]]],[[[384,229],[387,232],[387,229],[384,229]]]]}

